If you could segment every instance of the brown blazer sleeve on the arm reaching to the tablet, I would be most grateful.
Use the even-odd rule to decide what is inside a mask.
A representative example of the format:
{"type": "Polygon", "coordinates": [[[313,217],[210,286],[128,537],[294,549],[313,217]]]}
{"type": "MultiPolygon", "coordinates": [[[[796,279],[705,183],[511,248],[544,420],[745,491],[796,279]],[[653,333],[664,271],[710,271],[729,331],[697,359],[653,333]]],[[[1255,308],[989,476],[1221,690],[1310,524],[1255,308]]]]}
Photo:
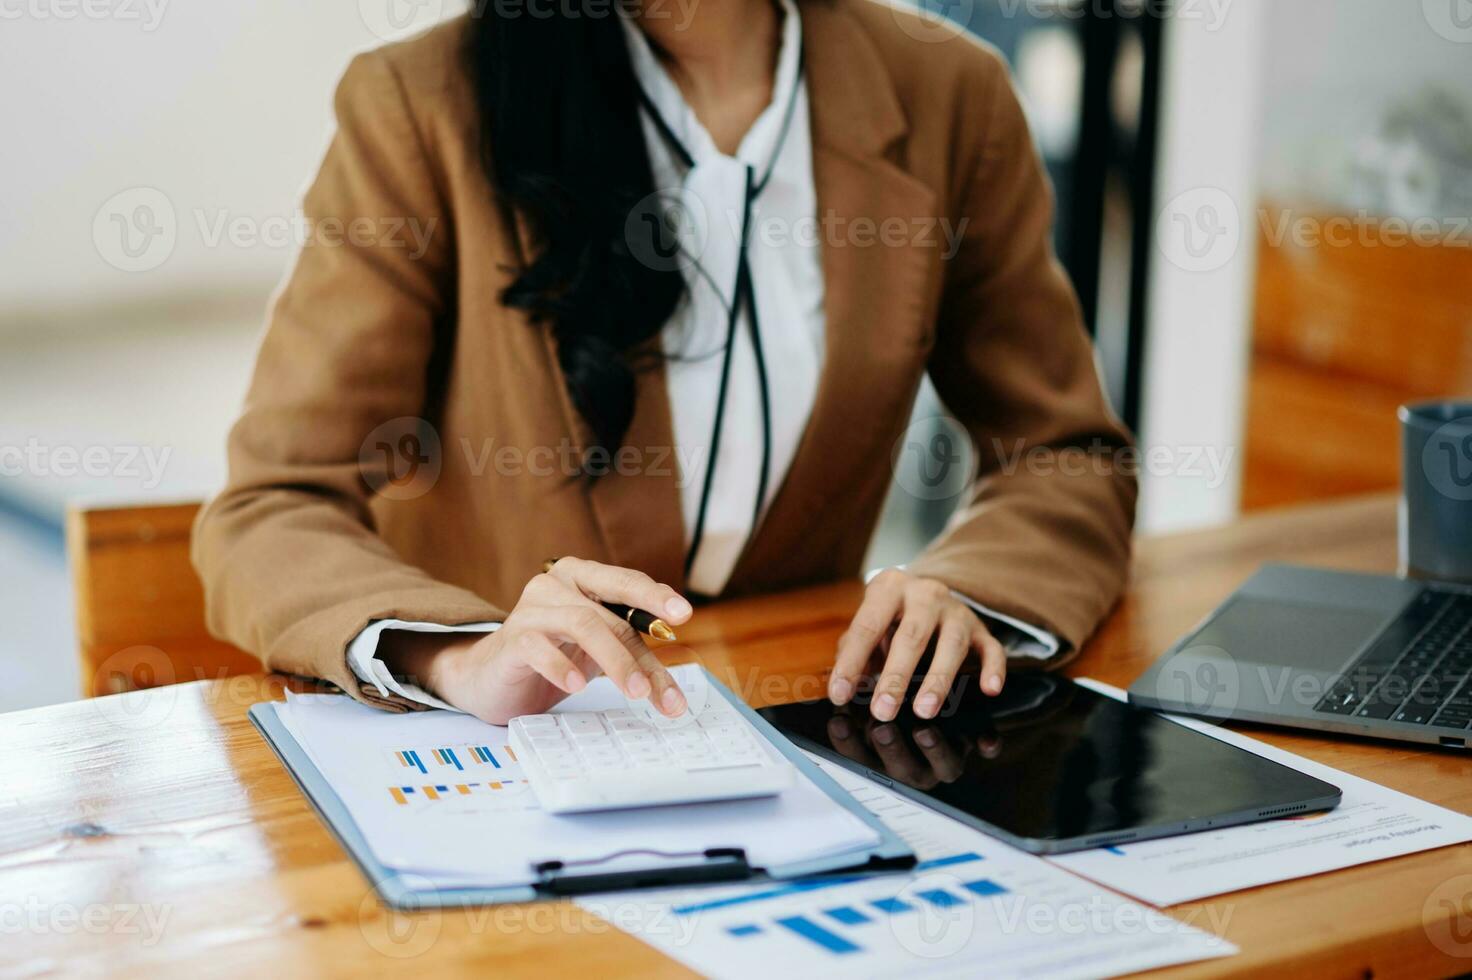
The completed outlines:
{"type": "Polygon", "coordinates": [[[952,197],[966,224],[929,363],[972,437],[977,474],[908,571],[1035,622],[1076,653],[1129,574],[1133,449],[1052,253],[1052,193],[1007,68],[995,54],[985,65],[972,91],[991,104],[952,197]]]}

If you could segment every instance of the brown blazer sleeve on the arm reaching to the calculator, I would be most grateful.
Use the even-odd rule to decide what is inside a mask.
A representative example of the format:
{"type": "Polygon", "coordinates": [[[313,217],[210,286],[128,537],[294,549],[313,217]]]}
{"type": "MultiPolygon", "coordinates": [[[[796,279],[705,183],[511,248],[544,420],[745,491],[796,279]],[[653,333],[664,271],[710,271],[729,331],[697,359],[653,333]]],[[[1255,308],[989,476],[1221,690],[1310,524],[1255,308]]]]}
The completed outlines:
{"type": "Polygon", "coordinates": [[[269,670],[403,711],[414,705],[359,686],[346,661],[355,636],[377,619],[505,614],[374,533],[369,500],[389,459],[364,452],[365,440],[425,412],[452,230],[390,62],[358,56],[334,107],[337,132],[303,205],[312,234],[274,302],[230,433],[230,475],[199,516],[193,555],[216,636],[269,670]],[[406,221],[430,232],[427,247],[397,231],[406,221]]]}

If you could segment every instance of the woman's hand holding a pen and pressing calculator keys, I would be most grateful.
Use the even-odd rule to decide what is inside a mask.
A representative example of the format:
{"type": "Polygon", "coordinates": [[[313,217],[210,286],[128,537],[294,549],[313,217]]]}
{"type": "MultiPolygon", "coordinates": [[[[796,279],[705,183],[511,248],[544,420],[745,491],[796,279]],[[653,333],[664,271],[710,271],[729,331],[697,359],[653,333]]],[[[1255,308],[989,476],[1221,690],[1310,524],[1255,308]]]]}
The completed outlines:
{"type": "Polygon", "coordinates": [[[394,674],[495,725],[540,714],[598,674],[670,718],[684,714],[684,695],[670,671],[599,602],[645,609],[671,625],[692,614],[683,596],[643,572],[562,558],[527,583],[495,633],[384,633],[381,656],[394,674]]]}

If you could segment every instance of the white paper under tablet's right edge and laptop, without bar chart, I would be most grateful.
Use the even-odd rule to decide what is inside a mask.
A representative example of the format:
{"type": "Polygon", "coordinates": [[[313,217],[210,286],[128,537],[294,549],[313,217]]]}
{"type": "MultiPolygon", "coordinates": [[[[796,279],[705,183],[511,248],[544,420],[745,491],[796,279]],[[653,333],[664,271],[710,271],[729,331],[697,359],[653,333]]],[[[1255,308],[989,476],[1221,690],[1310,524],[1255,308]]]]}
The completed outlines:
{"type": "MultiPolygon", "coordinates": [[[[1117,687],[1088,684],[1113,697],[1125,696],[1117,687]]],[[[1344,800],[1325,814],[1080,851],[1050,861],[1117,892],[1175,905],[1472,840],[1472,817],[1220,725],[1179,715],[1167,718],[1338,786],[1344,800]]]]}

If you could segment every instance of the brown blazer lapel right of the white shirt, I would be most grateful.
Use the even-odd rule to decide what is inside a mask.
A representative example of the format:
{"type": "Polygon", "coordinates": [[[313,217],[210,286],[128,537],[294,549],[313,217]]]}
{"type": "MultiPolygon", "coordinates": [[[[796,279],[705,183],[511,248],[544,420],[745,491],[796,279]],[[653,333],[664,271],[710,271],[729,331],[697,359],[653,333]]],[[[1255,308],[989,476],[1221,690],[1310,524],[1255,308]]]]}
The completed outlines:
{"type": "MultiPolygon", "coordinates": [[[[729,592],[782,589],[832,574],[808,543],[835,496],[886,477],[923,372],[939,255],[916,244],[936,196],[895,163],[907,122],[888,68],[836,6],[802,4],[827,352],[788,477],[732,575],[729,592]],[[907,222],[902,244],[879,238],[907,222]]],[[[852,528],[863,534],[867,528],[852,528]]]]}

